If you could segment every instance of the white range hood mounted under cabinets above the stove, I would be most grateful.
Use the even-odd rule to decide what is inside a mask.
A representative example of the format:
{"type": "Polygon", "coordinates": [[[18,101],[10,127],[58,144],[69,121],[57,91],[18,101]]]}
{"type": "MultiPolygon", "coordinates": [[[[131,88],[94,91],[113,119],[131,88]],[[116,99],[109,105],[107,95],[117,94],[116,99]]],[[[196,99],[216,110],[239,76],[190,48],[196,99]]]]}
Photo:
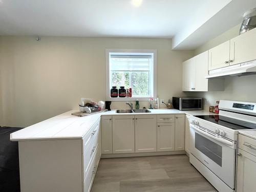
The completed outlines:
{"type": "Polygon", "coordinates": [[[216,70],[209,71],[209,75],[206,76],[206,79],[209,78],[219,78],[225,76],[245,76],[245,75],[254,75],[256,74],[256,60],[243,62],[237,65],[228,66],[216,70]]]}

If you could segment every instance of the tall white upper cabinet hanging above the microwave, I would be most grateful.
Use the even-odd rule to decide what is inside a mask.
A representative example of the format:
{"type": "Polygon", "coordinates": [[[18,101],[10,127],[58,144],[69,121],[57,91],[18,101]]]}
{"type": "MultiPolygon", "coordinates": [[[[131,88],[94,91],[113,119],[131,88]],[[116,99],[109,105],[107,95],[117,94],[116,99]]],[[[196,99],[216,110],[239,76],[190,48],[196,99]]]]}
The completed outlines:
{"type": "Polygon", "coordinates": [[[208,91],[208,51],[183,62],[182,91],[208,91]]]}

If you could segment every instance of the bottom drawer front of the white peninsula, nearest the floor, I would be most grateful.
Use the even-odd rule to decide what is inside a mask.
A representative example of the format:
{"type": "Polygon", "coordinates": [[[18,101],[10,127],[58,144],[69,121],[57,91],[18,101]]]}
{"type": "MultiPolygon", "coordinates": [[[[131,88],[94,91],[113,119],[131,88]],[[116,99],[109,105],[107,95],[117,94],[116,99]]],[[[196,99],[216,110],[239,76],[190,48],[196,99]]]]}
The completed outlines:
{"type": "Polygon", "coordinates": [[[93,156],[92,162],[89,164],[89,169],[88,169],[86,178],[83,181],[83,191],[84,192],[89,192],[91,190],[93,180],[94,180],[94,177],[96,174],[96,170],[98,167],[99,159],[100,159],[100,150],[99,150],[99,148],[97,148],[97,150],[95,151],[95,154],[93,156]]]}

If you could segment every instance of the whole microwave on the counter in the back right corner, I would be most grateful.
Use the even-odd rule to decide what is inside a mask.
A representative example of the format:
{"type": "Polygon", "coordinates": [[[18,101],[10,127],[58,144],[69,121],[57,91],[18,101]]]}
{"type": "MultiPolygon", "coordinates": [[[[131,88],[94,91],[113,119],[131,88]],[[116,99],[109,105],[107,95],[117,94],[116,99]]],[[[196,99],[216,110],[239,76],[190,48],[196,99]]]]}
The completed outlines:
{"type": "Polygon", "coordinates": [[[174,109],[202,110],[202,98],[199,97],[173,97],[174,109]]]}

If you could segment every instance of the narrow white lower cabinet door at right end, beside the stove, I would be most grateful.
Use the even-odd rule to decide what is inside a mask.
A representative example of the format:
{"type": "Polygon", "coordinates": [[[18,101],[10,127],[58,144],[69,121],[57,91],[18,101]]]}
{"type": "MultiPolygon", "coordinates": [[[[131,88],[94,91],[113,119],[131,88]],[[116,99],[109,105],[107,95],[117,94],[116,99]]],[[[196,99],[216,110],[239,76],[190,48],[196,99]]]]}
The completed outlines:
{"type": "Polygon", "coordinates": [[[175,151],[185,150],[185,115],[175,115],[175,151]]]}

